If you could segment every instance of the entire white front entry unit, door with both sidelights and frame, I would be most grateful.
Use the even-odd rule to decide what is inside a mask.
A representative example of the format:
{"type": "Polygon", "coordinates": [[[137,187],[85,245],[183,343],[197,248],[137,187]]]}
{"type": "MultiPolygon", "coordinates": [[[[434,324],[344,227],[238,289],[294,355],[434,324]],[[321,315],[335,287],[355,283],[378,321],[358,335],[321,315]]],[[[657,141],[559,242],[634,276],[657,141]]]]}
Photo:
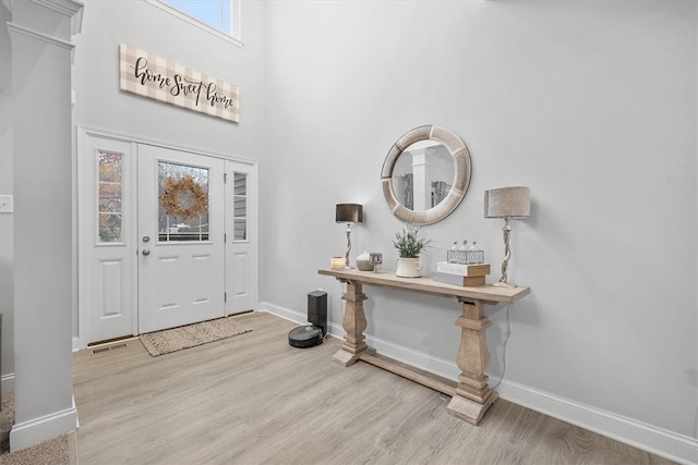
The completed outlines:
{"type": "Polygon", "coordinates": [[[254,309],[256,162],[83,129],[77,147],[74,348],[254,309]]]}

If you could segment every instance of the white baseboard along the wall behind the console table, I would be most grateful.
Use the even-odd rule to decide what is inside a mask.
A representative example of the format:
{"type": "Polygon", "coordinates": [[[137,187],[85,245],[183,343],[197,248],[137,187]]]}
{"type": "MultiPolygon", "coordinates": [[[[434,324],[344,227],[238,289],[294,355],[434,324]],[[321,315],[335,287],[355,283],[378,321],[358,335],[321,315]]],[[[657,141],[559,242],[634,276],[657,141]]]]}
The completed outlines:
{"type": "MultiPolygon", "coordinates": [[[[285,308],[269,302],[260,303],[262,311],[285,318],[300,325],[306,325],[306,314],[285,308]]],[[[328,323],[327,332],[335,338],[344,338],[341,325],[328,323]]],[[[460,370],[455,359],[434,358],[429,354],[365,335],[366,344],[378,353],[417,368],[424,369],[447,379],[457,379],[460,370]]],[[[497,381],[492,377],[494,381],[497,381]]],[[[660,455],[674,462],[698,464],[698,440],[672,431],[605,412],[590,405],[580,404],[564,397],[507,381],[497,388],[502,399],[522,405],[535,412],[579,426],[637,449],[660,455]]]]}

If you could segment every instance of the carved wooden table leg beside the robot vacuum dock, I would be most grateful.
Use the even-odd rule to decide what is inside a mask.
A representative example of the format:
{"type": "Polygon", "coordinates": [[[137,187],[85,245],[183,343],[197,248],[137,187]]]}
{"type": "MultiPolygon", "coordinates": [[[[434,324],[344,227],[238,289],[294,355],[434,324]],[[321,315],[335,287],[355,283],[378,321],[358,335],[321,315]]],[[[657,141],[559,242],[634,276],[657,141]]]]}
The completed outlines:
{"type": "Polygon", "coordinates": [[[361,283],[347,282],[347,292],[341,296],[347,302],[345,318],[341,327],[345,329],[345,343],[335,353],[333,360],[345,367],[353,364],[365,351],[368,345],[363,342],[363,331],[366,329],[366,317],[363,313],[363,301],[368,297],[361,292],[361,283]]]}

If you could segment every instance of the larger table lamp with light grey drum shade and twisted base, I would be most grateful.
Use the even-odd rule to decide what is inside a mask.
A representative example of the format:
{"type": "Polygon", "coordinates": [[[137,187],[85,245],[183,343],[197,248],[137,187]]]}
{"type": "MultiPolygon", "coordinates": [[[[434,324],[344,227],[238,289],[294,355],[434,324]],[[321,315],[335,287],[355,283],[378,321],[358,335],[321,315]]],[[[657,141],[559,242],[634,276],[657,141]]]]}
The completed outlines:
{"type": "Polygon", "coordinates": [[[507,268],[512,258],[509,236],[512,227],[509,219],[528,218],[531,216],[531,189],[530,187],[513,186],[498,187],[484,192],[484,217],[504,218],[504,261],[502,262],[502,278],[494,285],[516,287],[516,284],[507,282],[507,268]]]}

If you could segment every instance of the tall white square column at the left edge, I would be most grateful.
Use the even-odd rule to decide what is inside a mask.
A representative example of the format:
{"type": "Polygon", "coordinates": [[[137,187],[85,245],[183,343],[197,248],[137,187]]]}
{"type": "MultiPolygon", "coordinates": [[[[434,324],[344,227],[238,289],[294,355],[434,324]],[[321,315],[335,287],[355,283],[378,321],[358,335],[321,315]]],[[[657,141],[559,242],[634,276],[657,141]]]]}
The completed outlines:
{"type": "Polygon", "coordinates": [[[11,8],[16,451],[76,428],[70,39],[82,3],[11,8]]]}

